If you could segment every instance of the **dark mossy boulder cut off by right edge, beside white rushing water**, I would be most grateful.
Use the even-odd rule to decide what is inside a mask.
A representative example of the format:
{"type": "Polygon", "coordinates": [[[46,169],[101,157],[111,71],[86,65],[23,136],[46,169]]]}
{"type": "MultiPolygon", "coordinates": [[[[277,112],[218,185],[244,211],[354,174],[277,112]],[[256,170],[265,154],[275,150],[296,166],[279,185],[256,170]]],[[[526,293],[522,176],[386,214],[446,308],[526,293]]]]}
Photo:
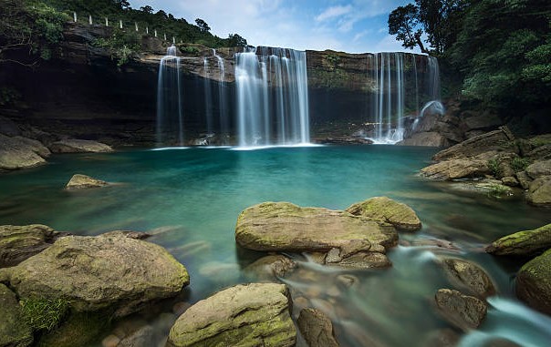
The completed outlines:
{"type": "Polygon", "coordinates": [[[551,314],[551,250],[528,261],[518,271],[516,296],[535,310],[551,314]]]}

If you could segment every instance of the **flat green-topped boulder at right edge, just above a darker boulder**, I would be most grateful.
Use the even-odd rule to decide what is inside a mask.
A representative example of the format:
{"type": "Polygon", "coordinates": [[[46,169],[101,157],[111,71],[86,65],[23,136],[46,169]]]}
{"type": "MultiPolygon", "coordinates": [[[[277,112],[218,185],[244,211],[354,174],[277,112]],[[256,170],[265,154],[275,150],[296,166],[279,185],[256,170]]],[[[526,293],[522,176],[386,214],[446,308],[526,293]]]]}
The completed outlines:
{"type": "Polygon", "coordinates": [[[495,255],[531,256],[551,248],[551,224],[523,230],[495,240],[486,252],[495,255]]]}

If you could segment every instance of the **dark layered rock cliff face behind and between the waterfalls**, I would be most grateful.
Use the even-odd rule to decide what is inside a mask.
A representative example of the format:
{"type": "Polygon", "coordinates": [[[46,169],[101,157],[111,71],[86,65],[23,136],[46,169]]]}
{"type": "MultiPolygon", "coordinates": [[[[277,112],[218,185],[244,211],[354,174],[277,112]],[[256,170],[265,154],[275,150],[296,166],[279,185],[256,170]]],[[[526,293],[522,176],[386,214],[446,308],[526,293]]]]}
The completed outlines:
{"type": "MultiPolygon", "coordinates": [[[[0,114],[24,120],[48,132],[113,145],[154,143],[157,74],[167,43],[151,36],[144,37],[142,50],[146,53],[119,67],[109,51],[93,45],[94,39],[110,34],[109,27],[105,26],[68,24],[65,40],[50,61],[43,62],[35,70],[10,66],[0,71],[0,82],[16,88],[23,96],[23,107],[17,112],[0,109],[0,114]]],[[[215,91],[224,82],[226,107],[230,118],[235,118],[236,52],[228,48],[216,51],[216,55],[224,59],[222,81],[218,57],[213,56],[211,49],[195,47],[192,53],[181,49],[179,56],[185,74],[182,78],[183,107],[185,128],[189,133],[186,138],[206,131],[205,88],[213,91],[210,110],[217,114],[219,102],[215,91]]],[[[372,56],[307,51],[313,137],[349,133],[367,121],[374,90],[370,78],[372,56]]],[[[231,121],[230,127],[234,126],[231,121]]]]}

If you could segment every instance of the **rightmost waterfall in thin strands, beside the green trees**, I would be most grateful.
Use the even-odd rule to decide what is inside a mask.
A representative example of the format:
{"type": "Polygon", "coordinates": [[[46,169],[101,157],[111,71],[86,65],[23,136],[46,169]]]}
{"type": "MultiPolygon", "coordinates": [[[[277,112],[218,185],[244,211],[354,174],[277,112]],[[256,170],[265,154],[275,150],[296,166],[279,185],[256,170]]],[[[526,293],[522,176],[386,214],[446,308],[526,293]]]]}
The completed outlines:
{"type": "MultiPolygon", "coordinates": [[[[404,117],[407,113],[421,117],[427,109],[443,114],[440,101],[440,71],[438,60],[427,56],[426,66],[418,66],[415,55],[379,53],[369,56],[373,81],[371,103],[375,123],[375,143],[394,144],[403,139],[404,117]],[[424,68],[423,68],[424,67],[424,68]],[[425,78],[420,78],[423,71],[425,78]],[[421,106],[424,102],[424,107],[421,106]],[[421,111],[420,111],[421,108],[421,111]]],[[[418,123],[417,119],[414,126],[418,123]]]]}

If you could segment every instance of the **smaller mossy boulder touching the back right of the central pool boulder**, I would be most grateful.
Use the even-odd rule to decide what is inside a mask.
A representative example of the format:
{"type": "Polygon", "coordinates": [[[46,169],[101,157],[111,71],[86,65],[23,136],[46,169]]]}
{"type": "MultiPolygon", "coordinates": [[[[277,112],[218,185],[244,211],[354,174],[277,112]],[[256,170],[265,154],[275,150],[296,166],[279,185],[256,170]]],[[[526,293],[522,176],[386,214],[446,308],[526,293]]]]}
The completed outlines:
{"type": "Polygon", "coordinates": [[[415,231],[421,229],[421,220],[415,211],[406,204],[387,197],[375,197],[355,203],[346,209],[354,216],[392,224],[398,230],[415,231]]]}

